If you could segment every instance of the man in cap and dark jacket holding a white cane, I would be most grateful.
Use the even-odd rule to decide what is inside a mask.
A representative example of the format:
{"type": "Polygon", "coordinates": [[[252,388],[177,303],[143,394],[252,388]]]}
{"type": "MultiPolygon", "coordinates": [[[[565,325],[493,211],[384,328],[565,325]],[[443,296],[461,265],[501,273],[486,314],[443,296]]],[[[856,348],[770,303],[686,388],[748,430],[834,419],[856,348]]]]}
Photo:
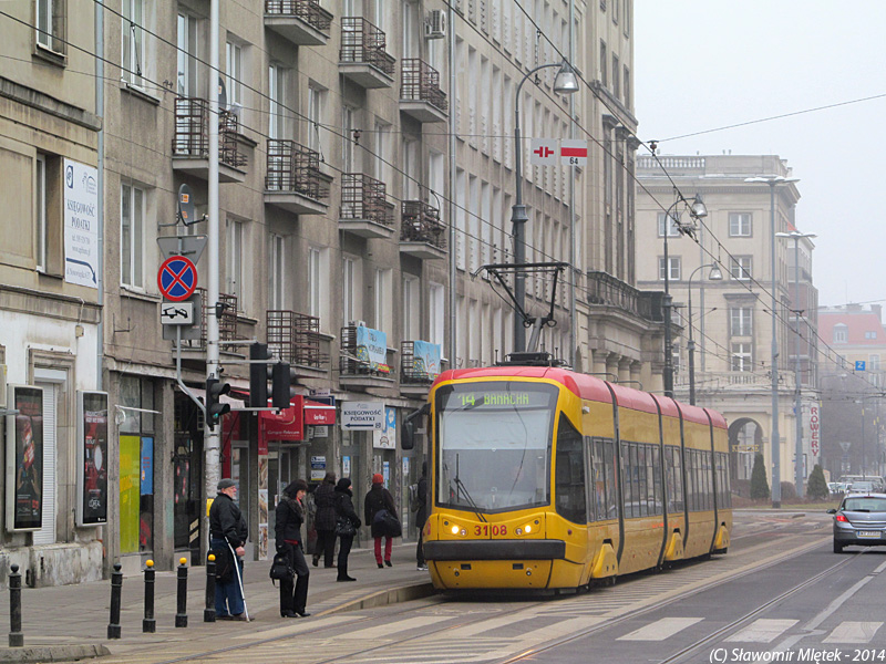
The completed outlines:
{"type": "Polygon", "coordinates": [[[243,592],[243,556],[248,531],[240,508],[234,502],[237,485],[218,483],[218,495],[209,508],[209,549],[216,559],[215,612],[218,620],[249,622],[243,592]]]}

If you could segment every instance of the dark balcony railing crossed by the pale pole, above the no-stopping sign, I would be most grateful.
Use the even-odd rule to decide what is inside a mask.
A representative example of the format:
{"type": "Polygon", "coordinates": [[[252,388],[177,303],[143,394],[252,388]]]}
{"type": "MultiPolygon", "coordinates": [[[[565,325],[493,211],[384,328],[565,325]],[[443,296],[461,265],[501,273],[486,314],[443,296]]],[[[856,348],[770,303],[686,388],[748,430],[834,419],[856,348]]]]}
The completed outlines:
{"type": "MultiPolygon", "coordinates": [[[[237,147],[237,116],[227,111],[218,120],[218,162],[231,168],[246,166],[246,155],[237,147]]],[[[176,97],[173,155],[206,159],[209,156],[209,102],[176,97]]]]}

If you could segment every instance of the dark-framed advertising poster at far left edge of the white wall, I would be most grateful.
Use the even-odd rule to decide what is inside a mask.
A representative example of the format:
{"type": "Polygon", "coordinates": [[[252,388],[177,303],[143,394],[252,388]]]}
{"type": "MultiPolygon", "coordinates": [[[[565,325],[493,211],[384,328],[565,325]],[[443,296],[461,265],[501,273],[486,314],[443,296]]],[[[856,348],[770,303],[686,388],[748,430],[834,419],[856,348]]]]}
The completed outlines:
{"type": "Polygon", "coordinates": [[[10,386],[8,418],[7,527],[39,530],[43,520],[43,390],[10,386]]]}

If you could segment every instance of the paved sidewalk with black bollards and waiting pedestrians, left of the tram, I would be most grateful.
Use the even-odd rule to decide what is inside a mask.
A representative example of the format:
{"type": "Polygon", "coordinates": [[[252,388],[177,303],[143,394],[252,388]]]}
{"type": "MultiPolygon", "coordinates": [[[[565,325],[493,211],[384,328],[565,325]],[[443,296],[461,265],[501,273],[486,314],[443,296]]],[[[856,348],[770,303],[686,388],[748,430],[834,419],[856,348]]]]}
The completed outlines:
{"type": "MultiPolygon", "coordinates": [[[[203,622],[206,568],[190,568],[188,575],[186,629],[175,627],[176,572],[157,572],[155,585],[155,634],[142,633],[144,618],[144,582],[140,575],[123,580],[121,609],[122,639],[109,641],[107,623],[111,606],[111,581],[22,590],[23,649],[0,647],[0,662],[59,662],[76,657],[107,654],[125,655],[140,651],[167,647],[173,643],[190,642],[195,652],[218,642],[223,635],[275,630],[315,616],[339,611],[402,602],[432,594],[427,572],[415,569],[415,544],[394,547],[392,568],[378,569],[369,549],[351,551],[349,573],[353,583],[338,583],[337,570],[311,567],[306,619],[282,619],[279,590],[268,578],[270,561],[246,563],[245,591],[251,623],[219,621],[203,622]]],[[[308,557],[310,564],[310,557],[308,557]]],[[[9,595],[0,595],[0,635],[8,643],[9,595]]]]}

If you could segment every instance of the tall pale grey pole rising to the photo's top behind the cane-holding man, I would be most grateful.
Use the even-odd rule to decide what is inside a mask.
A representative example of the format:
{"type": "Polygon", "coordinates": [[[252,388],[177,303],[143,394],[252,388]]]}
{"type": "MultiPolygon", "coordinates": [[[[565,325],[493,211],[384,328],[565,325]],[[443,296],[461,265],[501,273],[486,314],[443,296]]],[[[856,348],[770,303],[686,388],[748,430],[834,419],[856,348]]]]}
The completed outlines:
{"type": "MultiPolygon", "coordinates": [[[[206,228],[209,270],[207,297],[209,298],[209,315],[206,317],[206,377],[218,377],[218,304],[219,291],[219,232],[218,219],[218,9],[219,0],[209,2],[209,219],[206,228]]],[[[219,466],[219,448],[222,443],[220,426],[218,429],[206,425],[203,429],[204,449],[204,499],[215,495],[218,480],[222,479],[219,466]]],[[[199,538],[200,549],[208,547],[209,517],[206,509],[200,509],[203,533],[199,538]]]]}

